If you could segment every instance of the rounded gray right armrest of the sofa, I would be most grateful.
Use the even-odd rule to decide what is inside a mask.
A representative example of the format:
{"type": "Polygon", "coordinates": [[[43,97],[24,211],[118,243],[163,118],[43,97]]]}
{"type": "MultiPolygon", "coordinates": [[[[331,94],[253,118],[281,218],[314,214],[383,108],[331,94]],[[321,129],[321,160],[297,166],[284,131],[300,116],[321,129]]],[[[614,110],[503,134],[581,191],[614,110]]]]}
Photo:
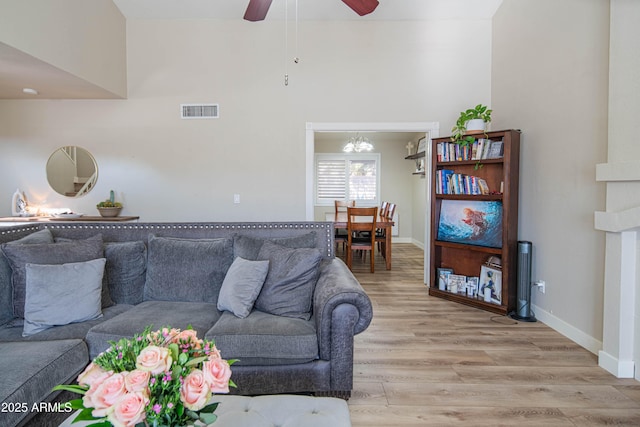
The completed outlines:
{"type": "Polygon", "coordinates": [[[335,355],[331,349],[332,337],[353,337],[371,323],[371,300],[339,258],[324,261],[320,267],[313,297],[313,313],[318,331],[319,356],[324,360],[331,360],[335,355]],[[343,304],[352,308],[348,310],[350,315],[346,315],[347,307],[337,310],[343,304]]]}

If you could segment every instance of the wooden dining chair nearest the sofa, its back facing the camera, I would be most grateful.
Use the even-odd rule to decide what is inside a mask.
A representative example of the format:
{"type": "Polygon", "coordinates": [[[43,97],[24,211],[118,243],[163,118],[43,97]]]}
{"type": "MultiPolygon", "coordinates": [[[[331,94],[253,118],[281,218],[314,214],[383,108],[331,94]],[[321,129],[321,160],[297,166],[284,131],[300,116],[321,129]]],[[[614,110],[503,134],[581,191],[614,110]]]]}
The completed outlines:
{"type": "Polygon", "coordinates": [[[347,266],[350,270],[353,263],[353,251],[369,251],[370,268],[371,272],[374,272],[377,218],[377,206],[347,208],[347,266]],[[368,235],[361,237],[361,232],[368,232],[368,235]]]}

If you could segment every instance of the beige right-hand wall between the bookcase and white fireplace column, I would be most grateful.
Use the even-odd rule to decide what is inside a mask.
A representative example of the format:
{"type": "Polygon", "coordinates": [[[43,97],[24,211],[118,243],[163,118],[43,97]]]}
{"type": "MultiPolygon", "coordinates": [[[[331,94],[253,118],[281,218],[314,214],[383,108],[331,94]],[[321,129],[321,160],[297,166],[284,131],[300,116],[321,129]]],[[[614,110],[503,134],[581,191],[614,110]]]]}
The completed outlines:
{"type": "Polygon", "coordinates": [[[602,340],[609,2],[505,0],[493,20],[494,126],[523,131],[519,238],[533,242],[538,319],[596,352],[602,340]]]}

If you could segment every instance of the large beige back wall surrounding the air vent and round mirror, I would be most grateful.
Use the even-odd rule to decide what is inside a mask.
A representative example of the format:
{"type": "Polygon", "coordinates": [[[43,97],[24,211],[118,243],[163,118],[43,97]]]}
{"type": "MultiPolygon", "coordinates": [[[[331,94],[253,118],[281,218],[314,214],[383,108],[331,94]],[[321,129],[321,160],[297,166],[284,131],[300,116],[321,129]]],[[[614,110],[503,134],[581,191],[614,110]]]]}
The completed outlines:
{"type": "Polygon", "coordinates": [[[127,100],[0,101],[0,215],[19,187],[32,203],[90,214],[113,189],[123,215],[144,221],[304,219],[306,122],[448,129],[460,110],[489,103],[490,21],[305,21],[299,30],[293,64],[282,22],[128,21],[127,100]],[[187,102],[217,102],[220,118],[180,120],[187,102]],[[98,163],[96,188],[79,200],[53,193],[44,174],[68,144],[98,163]]]}

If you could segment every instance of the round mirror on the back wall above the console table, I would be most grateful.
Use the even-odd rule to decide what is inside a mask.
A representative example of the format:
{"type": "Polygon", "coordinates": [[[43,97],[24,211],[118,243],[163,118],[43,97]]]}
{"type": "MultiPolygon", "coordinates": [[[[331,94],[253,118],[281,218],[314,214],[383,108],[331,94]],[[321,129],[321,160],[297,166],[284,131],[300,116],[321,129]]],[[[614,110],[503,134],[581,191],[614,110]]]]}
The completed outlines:
{"type": "Polygon", "coordinates": [[[82,197],[98,180],[98,165],[91,153],[81,147],[60,147],[47,161],[47,181],[56,193],[82,197]]]}

